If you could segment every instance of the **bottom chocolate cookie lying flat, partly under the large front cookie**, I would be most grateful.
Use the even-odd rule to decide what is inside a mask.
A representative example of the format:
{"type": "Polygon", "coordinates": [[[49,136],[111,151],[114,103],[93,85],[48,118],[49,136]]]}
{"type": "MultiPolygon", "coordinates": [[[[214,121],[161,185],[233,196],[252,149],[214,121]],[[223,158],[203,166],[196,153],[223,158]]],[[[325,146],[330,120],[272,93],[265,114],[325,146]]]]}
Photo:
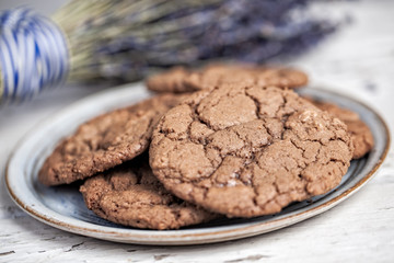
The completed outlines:
{"type": "Polygon", "coordinates": [[[80,192],[89,209],[125,226],[177,229],[218,217],[170,194],[154,178],[148,158],[89,178],[80,192]]]}

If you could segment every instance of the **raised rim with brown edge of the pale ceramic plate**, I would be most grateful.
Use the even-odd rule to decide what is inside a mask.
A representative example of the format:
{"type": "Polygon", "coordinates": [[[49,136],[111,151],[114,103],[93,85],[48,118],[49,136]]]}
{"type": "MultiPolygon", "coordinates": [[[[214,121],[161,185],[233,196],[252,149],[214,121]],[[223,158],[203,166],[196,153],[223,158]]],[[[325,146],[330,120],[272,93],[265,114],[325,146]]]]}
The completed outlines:
{"type": "MultiPolygon", "coordinates": [[[[326,202],[324,202],[321,205],[317,205],[315,207],[311,207],[306,210],[302,210],[299,213],[296,213],[293,215],[289,215],[282,218],[273,219],[265,222],[253,222],[248,226],[243,227],[236,227],[236,226],[227,226],[223,227],[223,229],[217,229],[211,230],[209,229],[198,229],[198,232],[196,232],[196,229],[181,229],[181,230],[166,230],[166,231],[159,231],[159,230],[143,230],[143,229],[127,229],[127,228],[119,228],[114,229],[113,227],[108,226],[96,226],[96,229],[89,228],[89,227],[81,227],[77,226],[74,224],[60,221],[57,218],[44,215],[43,213],[39,213],[39,210],[36,210],[34,207],[28,206],[25,204],[14,192],[14,190],[11,187],[10,184],[10,164],[16,155],[18,150],[27,141],[32,134],[34,135],[39,130],[39,128],[45,125],[46,123],[50,123],[53,118],[56,118],[57,116],[63,114],[70,108],[77,107],[79,104],[84,104],[86,101],[94,101],[96,98],[102,96],[103,94],[111,93],[114,91],[120,91],[124,89],[137,89],[139,85],[141,85],[141,82],[139,83],[128,83],[111,89],[106,89],[104,91],[100,91],[96,93],[93,93],[91,95],[88,95],[81,100],[78,100],[63,108],[50,114],[48,117],[43,119],[42,122],[38,122],[30,132],[27,132],[15,145],[13,150],[11,151],[9,159],[5,164],[5,172],[4,172],[4,181],[5,181],[5,187],[8,190],[8,193],[11,197],[11,199],[20,207],[22,210],[27,213],[30,216],[34,217],[35,219],[47,224],[51,227],[66,230],[68,232],[73,232],[78,235],[83,235],[92,238],[103,239],[103,240],[111,240],[116,242],[127,242],[127,243],[138,243],[138,244],[161,244],[161,245],[187,245],[187,244],[198,244],[198,243],[212,243],[212,242],[219,242],[219,241],[228,241],[233,239],[241,239],[246,237],[252,237],[256,235],[260,235],[268,231],[274,231],[283,227],[287,227],[289,225],[293,225],[297,222],[300,222],[302,220],[305,220],[310,217],[313,217],[314,215],[317,215],[320,213],[324,213],[332,207],[334,207],[336,204],[347,199],[352,194],[355,194],[358,190],[360,190],[368,181],[371,180],[372,175],[376,173],[376,171],[380,169],[381,164],[385,160],[390,146],[391,146],[391,134],[387,124],[385,123],[384,118],[370,105],[366,104],[364,102],[361,102],[357,99],[350,98],[346,94],[340,94],[335,91],[331,91],[328,89],[321,89],[316,87],[308,87],[309,89],[313,89],[316,91],[322,91],[325,93],[331,93],[332,95],[341,96],[347,100],[354,101],[357,104],[360,104],[361,106],[366,107],[368,111],[373,113],[378,121],[382,124],[383,130],[386,136],[386,141],[384,145],[384,149],[382,153],[378,157],[379,159],[373,164],[371,170],[361,178],[354,186],[346,190],[344,193],[341,193],[338,196],[335,196],[326,202]],[[293,220],[294,219],[294,220],[293,220]],[[282,221],[287,221],[287,224],[281,224],[282,221]],[[270,226],[270,227],[268,227],[270,226]],[[268,227],[268,230],[266,229],[268,227]],[[147,232],[149,231],[149,232],[147,232]],[[152,238],[155,238],[154,240],[151,240],[152,238]]],[[[143,85],[142,85],[143,87],[143,85]]],[[[58,214],[57,211],[54,211],[58,214]]],[[[60,215],[60,214],[59,214],[60,215]]],[[[80,219],[74,219],[82,221],[80,219]]],[[[92,222],[85,222],[83,224],[92,224],[92,222]]],[[[93,225],[93,224],[92,224],[93,225]]]]}

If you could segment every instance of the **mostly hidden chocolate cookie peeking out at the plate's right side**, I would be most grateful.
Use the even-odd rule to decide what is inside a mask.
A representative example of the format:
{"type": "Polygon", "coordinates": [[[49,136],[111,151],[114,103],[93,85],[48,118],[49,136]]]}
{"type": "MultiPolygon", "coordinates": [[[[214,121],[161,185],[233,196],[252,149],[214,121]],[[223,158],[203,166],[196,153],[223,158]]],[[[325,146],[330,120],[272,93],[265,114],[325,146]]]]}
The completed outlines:
{"type": "Polygon", "coordinates": [[[322,111],[327,111],[347,125],[355,145],[354,159],[363,157],[372,149],[374,145],[373,135],[357,113],[341,108],[333,103],[309,100],[322,111]]]}

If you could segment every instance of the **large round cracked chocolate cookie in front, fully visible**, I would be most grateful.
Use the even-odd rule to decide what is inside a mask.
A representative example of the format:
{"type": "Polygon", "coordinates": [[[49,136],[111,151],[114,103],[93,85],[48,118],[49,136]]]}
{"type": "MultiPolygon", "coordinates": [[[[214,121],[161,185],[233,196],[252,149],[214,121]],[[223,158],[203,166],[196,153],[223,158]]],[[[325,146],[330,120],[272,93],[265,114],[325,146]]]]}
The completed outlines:
{"type": "Polygon", "coordinates": [[[352,148],[343,122],[294,92],[228,84],[163,115],[150,164],[179,198],[253,217],[337,186],[352,148]]]}

